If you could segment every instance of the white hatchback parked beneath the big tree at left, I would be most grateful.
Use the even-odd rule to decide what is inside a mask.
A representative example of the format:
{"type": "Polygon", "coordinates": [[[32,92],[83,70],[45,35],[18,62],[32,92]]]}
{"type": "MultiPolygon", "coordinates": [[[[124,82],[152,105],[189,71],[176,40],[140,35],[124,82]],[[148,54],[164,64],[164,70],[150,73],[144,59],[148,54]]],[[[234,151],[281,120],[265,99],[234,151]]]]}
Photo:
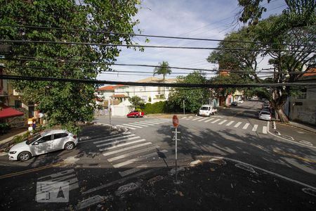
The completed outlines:
{"type": "Polygon", "coordinates": [[[78,139],[74,134],[67,130],[53,129],[46,132],[41,132],[33,136],[27,141],[15,144],[9,153],[9,160],[25,161],[35,155],[41,155],[62,149],[72,150],[77,146],[78,139]]]}

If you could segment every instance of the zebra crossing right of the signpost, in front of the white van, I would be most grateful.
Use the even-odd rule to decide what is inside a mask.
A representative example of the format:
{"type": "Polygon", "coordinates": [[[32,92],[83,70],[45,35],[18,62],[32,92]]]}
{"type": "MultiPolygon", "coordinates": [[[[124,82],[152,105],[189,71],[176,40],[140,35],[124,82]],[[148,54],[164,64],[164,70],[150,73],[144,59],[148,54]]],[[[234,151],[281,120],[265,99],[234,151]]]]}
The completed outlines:
{"type": "Polygon", "coordinates": [[[204,122],[208,124],[218,124],[223,126],[230,126],[233,128],[241,128],[241,129],[248,129],[251,132],[261,132],[263,134],[267,134],[268,128],[267,126],[260,127],[258,124],[250,124],[248,122],[238,122],[235,120],[225,120],[225,117],[219,116],[219,117],[196,117],[196,116],[189,116],[189,117],[182,117],[182,120],[190,120],[190,121],[196,121],[196,122],[204,122]]]}

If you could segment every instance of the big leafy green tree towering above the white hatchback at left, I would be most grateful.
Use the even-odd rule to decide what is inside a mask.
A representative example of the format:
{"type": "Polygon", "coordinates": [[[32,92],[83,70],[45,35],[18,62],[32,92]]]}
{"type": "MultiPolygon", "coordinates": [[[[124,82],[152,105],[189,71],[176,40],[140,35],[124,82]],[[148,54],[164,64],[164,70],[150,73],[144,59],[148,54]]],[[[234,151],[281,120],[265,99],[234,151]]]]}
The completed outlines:
{"type": "MultiPolygon", "coordinates": [[[[125,34],[80,32],[71,29],[133,33],[133,26],[138,22],[132,18],[138,12],[138,0],[85,0],[84,4],[74,0],[0,0],[0,3],[1,25],[34,25],[64,29],[1,26],[0,39],[133,44],[131,36],[125,34]]],[[[100,71],[109,70],[109,67],[69,63],[65,60],[110,63],[116,60],[121,51],[115,46],[76,44],[30,42],[13,43],[12,46],[14,53],[6,56],[5,60],[8,74],[75,79],[96,79],[100,71]],[[32,60],[28,60],[30,58],[32,60]],[[41,62],[37,59],[52,62],[41,62]]],[[[37,103],[37,109],[46,113],[51,125],[61,124],[62,127],[77,133],[78,127],[75,122],[93,118],[93,93],[98,88],[93,84],[53,81],[19,81],[12,84],[26,101],[37,103]]]]}

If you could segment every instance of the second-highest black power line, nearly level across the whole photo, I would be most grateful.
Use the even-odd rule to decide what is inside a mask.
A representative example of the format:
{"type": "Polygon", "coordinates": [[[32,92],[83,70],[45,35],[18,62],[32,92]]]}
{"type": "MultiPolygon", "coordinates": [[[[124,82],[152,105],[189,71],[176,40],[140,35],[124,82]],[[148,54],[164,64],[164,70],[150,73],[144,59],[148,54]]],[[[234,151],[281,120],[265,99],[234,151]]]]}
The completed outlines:
{"type": "Polygon", "coordinates": [[[277,51],[277,52],[305,52],[314,53],[315,51],[303,51],[293,49],[244,49],[244,48],[211,48],[211,47],[185,47],[185,46],[150,46],[150,45],[133,45],[133,44],[104,44],[96,42],[80,41],[43,41],[43,40],[22,40],[22,39],[0,39],[0,42],[12,43],[32,43],[32,44],[72,44],[72,45],[89,45],[89,46],[117,46],[117,47],[136,47],[136,48],[156,48],[156,49],[195,49],[195,50],[223,50],[223,51],[277,51]]]}

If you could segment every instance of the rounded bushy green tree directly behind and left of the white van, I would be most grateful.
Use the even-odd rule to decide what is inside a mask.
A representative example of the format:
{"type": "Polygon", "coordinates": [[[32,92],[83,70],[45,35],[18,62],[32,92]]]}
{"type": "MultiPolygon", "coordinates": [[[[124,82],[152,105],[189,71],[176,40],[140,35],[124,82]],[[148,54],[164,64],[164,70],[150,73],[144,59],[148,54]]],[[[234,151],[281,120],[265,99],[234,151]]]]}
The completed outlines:
{"type": "MultiPolygon", "coordinates": [[[[206,84],[207,79],[204,74],[195,71],[185,77],[178,77],[177,83],[206,84]]],[[[183,109],[183,101],[185,101],[185,110],[191,113],[197,113],[199,108],[208,102],[208,99],[208,89],[175,88],[170,92],[166,104],[169,110],[176,112],[183,109]]]]}

